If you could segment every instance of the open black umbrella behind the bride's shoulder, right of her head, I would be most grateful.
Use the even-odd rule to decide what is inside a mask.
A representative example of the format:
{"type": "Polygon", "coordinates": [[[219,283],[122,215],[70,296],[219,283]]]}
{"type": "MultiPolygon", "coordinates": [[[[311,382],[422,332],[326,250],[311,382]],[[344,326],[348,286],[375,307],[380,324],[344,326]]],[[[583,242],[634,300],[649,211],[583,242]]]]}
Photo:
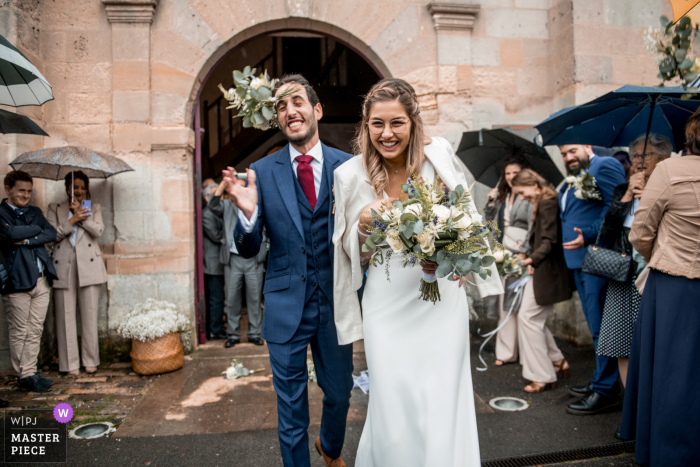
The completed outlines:
{"type": "Polygon", "coordinates": [[[549,154],[537,144],[508,130],[467,131],[457,148],[462,159],[477,182],[495,187],[501,178],[503,162],[510,156],[519,156],[530,167],[557,186],[564,176],[549,154]]]}

